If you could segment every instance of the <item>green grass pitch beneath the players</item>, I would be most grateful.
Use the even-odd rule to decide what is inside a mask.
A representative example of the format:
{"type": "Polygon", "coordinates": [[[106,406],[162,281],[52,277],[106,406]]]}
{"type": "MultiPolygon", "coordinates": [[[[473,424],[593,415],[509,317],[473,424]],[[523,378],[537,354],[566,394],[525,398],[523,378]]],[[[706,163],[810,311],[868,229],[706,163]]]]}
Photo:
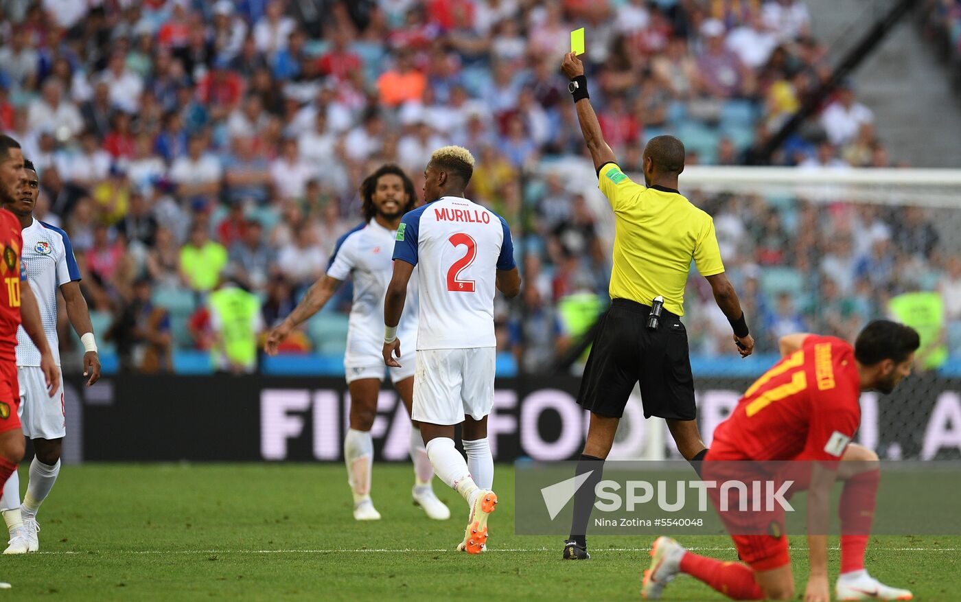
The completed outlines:
{"type": "MultiPolygon", "coordinates": [[[[26,469],[21,469],[26,482],[26,469]]],[[[39,554],[0,559],[10,600],[638,600],[650,538],[594,537],[589,562],[560,560],[560,537],[513,534],[513,470],[498,465],[490,551],[457,553],[466,504],[431,521],[410,502],[409,464],[378,464],[383,519],[357,523],[340,464],[64,466],[44,503],[39,554]]],[[[684,537],[736,560],[721,537],[684,537]]],[[[798,589],[806,553],[792,541],[798,589]]],[[[832,544],[837,545],[836,541],[832,544]]],[[[872,539],[868,568],[915,599],[961,599],[961,538],[872,539]]],[[[838,552],[831,551],[836,574],[838,552]]],[[[687,577],[669,600],[720,600],[687,577]]]]}

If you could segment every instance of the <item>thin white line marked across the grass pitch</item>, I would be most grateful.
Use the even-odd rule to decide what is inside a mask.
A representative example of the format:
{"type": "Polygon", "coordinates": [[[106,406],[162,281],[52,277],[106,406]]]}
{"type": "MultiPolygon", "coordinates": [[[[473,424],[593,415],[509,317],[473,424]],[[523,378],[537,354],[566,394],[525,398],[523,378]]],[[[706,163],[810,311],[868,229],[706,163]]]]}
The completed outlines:
{"type": "MultiPolygon", "coordinates": [[[[728,547],[690,547],[687,548],[694,552],[730,552],[734,548],[732,546],[728,547]]],[[[840,547],[830,547],[829,550],[837,551],[840,547]]],[[[961,548],[953,547],[873,547],[869,548],[876,550],[878,552],[958,552],[961,548]]],[[[620,548],[600,548],[597,550],[592,550],[594,552],[648,552],[650,547],[620,547],[620,548]]],[[[48,554],[51,556],[69,556],[69,555],[89,555],[89,554],[400,554],[400,553],[421,553],[427,554],[432,552],[453,552],[455,549],[451,548],[429,548],[429,549],[414,549],[414,548],[331,548],[331,549],[318,549],[318,550],[56,550],[50,551],[45,550],[41,552],[35,552],[36,554],[48,554]]],[[[554,548],[489,548],[485,553],[492,552],[515,552],[515,553],[525,553],[525,552],[554,552],[554,548]]],[[[801,550],[798,550],[801,551],[801,550]]]]}

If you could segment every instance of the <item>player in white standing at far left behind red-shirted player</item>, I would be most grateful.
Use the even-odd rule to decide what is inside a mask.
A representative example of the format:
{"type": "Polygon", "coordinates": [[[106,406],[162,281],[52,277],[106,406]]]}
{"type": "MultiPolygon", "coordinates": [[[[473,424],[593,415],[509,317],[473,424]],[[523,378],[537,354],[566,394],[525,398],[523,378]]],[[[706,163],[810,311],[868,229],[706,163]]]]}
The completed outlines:
{"type": "MultiPolygon", "coordinates": [[[[33,163],[24,162],[27,188],[23,196],[7,206],[23,228],[23,265],[27,270],[30,288],[37,298],[43,330],[58,367],[60,345],[57,340],[57,291],[63,294],[67,316],[84,342],[84,376],[89,387],[100,379],[100,359],[93,338],[90,312],[80,292],[80,270],[73,257],[70,238],[60,228],[34,219],[34,207],[39,196],[39,178],[33,163]]],[[[13,472],[3,489],[0,507],[10,530],[10,546],[4,554],[36,552],[37,510],[46,499],[60,474],[63,437],[66,435],[66,414],[63,407],[63,379],[53,394],[47,389],[40,369],[37,345],[21,326],[16,332],[17,379],[20,382],[20,421],[23,435],[33,439],[36,455],[30,464],[30,481],[20,504],[20,480],[13,472]]]]}

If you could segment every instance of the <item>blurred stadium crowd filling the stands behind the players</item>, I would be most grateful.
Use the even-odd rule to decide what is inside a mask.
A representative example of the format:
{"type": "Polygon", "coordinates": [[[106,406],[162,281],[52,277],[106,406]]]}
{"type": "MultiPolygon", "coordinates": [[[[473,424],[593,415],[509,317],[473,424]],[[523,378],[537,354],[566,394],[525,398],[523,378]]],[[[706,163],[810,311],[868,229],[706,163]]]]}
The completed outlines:
{"type": "MultiPolygon", "coordinates": [[[[419,190],[447,143],[475,154],[472,198],[524,240],[530,286],[501,307],[502,350],[546,368],[603,308],[609,270],[584,191],[541,175],[584,153],[558,71],[570,30],[587,28],[592,101],[628,172],[662,133],[689,164],[765,163],[756,148],[828,74],[801,0],[0,6],[0,128],[37,165],[38,217],[69,233],[100,336],[130,369],[209,349],[224,283],[255,293],[258,328],[275,324],[359,220],[362,176],[399,163],[419,190]]],[[[891,158],[846,83],[767,163],[891,158]]],[[[762,349],[790,330],[850,337],[910,290],[940,290],[961,323],[961,263],[922,210],[691,198],[714,215],[762,349]]],[[[692,350],[721,353],[729,327],[701,284],[692,350]]],[[[349,302],[341,291],[285,350],[342,352],[349,302]]]]}

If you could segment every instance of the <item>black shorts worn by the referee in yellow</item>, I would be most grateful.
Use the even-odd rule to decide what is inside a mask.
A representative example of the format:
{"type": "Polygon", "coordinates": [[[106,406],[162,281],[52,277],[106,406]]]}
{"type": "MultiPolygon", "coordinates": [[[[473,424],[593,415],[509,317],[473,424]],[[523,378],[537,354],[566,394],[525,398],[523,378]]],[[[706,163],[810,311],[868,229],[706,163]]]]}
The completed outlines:
{"type": "Polygon", "coordinates": [[[651,308],[614,299],[580,381],[578,404],[603,416],[621,417],[635,383],[640,383],[644,417],[693,420],[694,377],[687,356],[687,331],[676,314],[661,312],[660,327],[647,327],[651,308]]]}

